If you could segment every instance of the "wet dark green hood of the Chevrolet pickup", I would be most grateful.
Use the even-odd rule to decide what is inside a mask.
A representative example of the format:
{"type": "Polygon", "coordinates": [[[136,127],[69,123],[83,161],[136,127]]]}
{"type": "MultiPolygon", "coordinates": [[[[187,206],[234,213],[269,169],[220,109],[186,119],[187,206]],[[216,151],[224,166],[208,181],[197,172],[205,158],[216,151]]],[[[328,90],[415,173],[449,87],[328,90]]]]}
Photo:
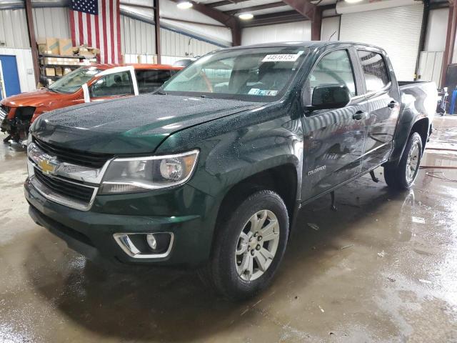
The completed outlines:
{"type": "Polygon", "coordinates": [[[226,99],[145,94],[48,112],[34,136],[69,149],[108,154],[151,153],[176,131],[262,106],[226,99]]]}

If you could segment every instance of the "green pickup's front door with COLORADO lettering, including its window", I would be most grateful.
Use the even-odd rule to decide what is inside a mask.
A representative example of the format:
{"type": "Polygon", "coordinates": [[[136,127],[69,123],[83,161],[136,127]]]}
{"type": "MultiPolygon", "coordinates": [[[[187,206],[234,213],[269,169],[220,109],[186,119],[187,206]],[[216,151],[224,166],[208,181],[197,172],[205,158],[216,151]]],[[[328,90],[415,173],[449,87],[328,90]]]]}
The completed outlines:
{"type": "Polygon", "coordinates": [[[351,102],[340,109],[316,110],[303,117],[303,200],[311,199],[361,173],[368,106],[354,76],[355,52],[330,51],[316,64],[303,94],[311,103],[316,86],[346,86],[351,102]]]}

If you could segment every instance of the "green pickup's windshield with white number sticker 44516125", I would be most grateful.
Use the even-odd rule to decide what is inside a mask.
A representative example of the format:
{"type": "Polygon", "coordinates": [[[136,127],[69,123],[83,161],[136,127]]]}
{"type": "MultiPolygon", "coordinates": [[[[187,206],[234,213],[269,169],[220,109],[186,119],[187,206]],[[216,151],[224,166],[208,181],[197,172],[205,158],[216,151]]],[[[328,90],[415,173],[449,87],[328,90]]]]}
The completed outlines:
{"type": "Polygon", "coordinates": [[[274,46],[214,51],[164,84],[167,94],[246,101],[280,98],[308,50],[274,46]]]}

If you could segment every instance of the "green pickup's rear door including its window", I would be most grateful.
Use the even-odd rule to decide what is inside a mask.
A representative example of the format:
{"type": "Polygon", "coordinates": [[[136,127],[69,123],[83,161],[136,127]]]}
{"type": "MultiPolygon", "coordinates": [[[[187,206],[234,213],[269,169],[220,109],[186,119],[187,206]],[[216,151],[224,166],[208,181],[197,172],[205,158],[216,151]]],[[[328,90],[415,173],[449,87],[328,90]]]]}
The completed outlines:
{"type": "Polygon", "coordinates": [[[357,49],[363,76],[363,89],[368,101],[368,135],[362,170],[373,169],[388,159],[393,144],[400,92],[391,64],[379,49],[357,49]]]}

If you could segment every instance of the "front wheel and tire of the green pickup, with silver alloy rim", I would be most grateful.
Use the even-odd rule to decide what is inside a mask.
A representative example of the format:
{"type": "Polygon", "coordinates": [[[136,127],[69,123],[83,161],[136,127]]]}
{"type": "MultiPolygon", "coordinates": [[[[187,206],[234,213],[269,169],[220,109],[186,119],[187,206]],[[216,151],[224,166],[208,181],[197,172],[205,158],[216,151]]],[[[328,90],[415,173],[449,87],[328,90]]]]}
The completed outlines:
{"type": "Polygon", "coordinates": [[[211,258],[199,275],[223,297],[247,299],[266,288],[278,269],[288,240],[288,212],[278,194],[262,190],[227,218],[216,227],[211,258]]]}

